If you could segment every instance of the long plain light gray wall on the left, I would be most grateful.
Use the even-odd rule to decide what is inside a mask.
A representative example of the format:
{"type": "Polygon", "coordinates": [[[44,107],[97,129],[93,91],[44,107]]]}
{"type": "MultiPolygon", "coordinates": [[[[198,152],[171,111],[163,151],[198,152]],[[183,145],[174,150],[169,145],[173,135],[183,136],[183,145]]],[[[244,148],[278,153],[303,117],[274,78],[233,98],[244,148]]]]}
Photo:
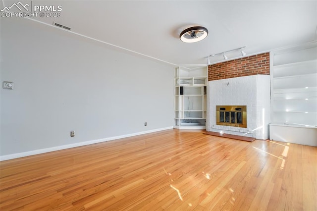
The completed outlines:
{"type": "Polygon", "coordinates": [[[173,125],[173,67],[23,18],[0,27],[1,156],[173,125]]]}

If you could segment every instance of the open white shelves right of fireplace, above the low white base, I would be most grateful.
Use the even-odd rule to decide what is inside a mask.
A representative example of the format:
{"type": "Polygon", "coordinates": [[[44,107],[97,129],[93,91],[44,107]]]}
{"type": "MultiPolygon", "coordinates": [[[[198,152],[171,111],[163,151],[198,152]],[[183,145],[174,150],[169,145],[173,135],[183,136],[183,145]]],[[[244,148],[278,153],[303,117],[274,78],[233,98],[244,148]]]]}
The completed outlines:
{"type": "Polygon", "coordinates": [[[317,125],[316,52],[317,47],[272,52],[271,62],[279,64],[270,71],[272,124],[317,125]]]}

